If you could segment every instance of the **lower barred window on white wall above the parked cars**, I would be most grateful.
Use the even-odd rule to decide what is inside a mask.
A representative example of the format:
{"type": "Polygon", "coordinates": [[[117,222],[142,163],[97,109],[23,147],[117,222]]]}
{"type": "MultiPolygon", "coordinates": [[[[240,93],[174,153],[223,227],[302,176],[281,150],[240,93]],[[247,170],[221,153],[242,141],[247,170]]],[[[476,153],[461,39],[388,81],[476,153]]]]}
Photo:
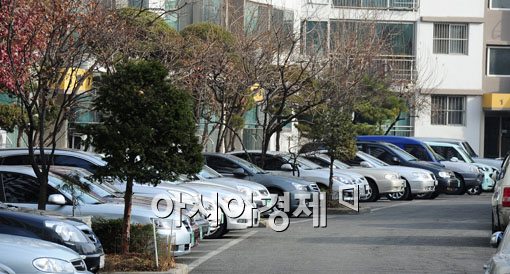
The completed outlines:
{"type": "Polygon", "coordinates": [[[433,125],[464,125],[466,97],[433,95],[431,110],[433,125]]]}

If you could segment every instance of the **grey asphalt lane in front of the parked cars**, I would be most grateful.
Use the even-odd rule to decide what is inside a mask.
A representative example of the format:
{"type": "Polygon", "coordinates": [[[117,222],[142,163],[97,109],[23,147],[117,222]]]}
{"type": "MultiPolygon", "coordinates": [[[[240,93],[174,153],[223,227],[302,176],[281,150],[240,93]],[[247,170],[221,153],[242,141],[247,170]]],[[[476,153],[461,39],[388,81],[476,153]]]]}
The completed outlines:
{"type": "Polygon", "coordinates": [[[177,258],[192,273],[480,273],[489,247],[490,193],[363,204],[371,212],[328,215],[326,228],[292,219],[203,240],[177,258]]]}

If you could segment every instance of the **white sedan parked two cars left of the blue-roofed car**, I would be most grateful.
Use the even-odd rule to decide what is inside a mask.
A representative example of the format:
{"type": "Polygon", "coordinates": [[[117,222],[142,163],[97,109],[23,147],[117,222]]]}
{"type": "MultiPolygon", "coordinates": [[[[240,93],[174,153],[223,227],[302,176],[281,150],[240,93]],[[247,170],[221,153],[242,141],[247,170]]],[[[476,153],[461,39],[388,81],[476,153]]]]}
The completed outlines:
{"type": "MultiPolygon", "coordinates": [[[[304,157],[307,159],[321,165],[323,167],[328,167],[331,163],[331,159],[326,154],[321,153],[309,153],[304,157]]],[[[379,160],[378,160],[379,161],[379,160]]],[[[371,168],[364,168],[360,165],[350,166],[344,162],[339,160],[334,160],[333,165],[338,169],[348,169],[355,172],[358,172],[365,176],[369,182],[377,183],[377,188],[382,189],[384,187],[387,188],[391,182],[389,182],[388,177],[391,177],[393,173],[398,172],[399,178],[402,178],[406,181],[406,187],[402,192],[392,192],[387,193],[386,197],[390,200],[412,200],[414,195],[427,195],[431,194],[435,190],[435,179],[430,172],[425,172],[422,170],[413,170],[413,172],[417,172],[418,176],[412,176],[412,178],[418,179],[417,181],[407,180],[401,173],[401,170],[405,169],[404,167],[399,167],[397,169],[387,168],[388,165],[382,166],[371,166],[371,168]]]]}

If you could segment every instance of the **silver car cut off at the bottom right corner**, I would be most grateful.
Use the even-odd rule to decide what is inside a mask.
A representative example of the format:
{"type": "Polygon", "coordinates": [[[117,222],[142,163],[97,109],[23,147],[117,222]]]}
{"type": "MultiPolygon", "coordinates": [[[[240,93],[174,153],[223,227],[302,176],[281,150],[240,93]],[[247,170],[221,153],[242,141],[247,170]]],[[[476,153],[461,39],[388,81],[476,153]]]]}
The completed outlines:
{"type": "Polygon", "coordinates": [[[510,227],[507,226],[505,232],[496,231],[492,234],[490,245],[498,248],[489,261],[483,266],[485,274],[505,274],[510,273],[510,227]]]}

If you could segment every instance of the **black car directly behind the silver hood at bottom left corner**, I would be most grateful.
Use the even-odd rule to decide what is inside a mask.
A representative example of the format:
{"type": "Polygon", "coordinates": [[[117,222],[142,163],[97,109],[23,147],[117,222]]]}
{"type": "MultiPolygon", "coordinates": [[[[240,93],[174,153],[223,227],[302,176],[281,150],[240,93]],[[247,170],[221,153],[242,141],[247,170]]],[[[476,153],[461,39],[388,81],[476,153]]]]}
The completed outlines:
{"type": "Polygon", "coordinates": [[[43,214],[47,213],[0,203],[0,233],[66,246],[85,257],[90,272],[97,272],[104,266],[103,246],[89,226],[77,219],[43,214]]]}

